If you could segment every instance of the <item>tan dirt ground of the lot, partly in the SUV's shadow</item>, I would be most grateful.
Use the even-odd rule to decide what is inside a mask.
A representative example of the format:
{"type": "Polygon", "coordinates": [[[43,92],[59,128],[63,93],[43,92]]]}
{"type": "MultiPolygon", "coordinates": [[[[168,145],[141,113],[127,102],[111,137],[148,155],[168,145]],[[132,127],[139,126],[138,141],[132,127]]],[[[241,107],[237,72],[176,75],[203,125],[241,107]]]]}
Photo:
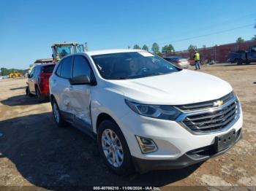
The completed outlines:
{"type": "Polygon", "coordinates": [[[129,177],[108,171],[89,136],[72,127],[57,128],[50,104],[24,95],[26,79],[0,80],[0,187],[256,186],[256,65],[205,66],[202,71],[227,80],[238,94],[244,111],[243,139],[203,164],[129,177]]]}

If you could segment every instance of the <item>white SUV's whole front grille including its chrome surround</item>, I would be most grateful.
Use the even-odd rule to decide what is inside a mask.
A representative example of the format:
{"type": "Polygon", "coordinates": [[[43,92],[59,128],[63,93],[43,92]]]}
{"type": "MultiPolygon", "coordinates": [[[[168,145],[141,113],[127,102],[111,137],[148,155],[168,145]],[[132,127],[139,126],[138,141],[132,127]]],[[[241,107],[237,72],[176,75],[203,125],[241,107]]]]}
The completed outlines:
{"type": "MultiPolygon", "coordinates": [[[[230,95],[230,93],[228,94],[230,95]]],[[[227,97],[225,95],[223,98],[227,97]]],[[[219,107],[183,112],[176,122],[193,134],[217,133],[229,129],[240,117],[240,104],[236,95],[219,107]]],[[[213,101],[209,101],[213,103],[213,101]]],[[[224,101],[223,101],[224,102],[224,101]]]]}

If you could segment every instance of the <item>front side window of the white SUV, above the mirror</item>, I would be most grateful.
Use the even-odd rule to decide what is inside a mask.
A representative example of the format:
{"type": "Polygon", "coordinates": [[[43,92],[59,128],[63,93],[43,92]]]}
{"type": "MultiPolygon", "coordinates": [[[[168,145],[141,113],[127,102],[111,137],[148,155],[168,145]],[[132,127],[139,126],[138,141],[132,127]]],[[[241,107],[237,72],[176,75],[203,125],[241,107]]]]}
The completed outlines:
{"type": "Polygon", "coordinates": [[[76,55],[73,66],[73,77],[86,75],[91,78],[89,62],[82,55],[76,55]]]}

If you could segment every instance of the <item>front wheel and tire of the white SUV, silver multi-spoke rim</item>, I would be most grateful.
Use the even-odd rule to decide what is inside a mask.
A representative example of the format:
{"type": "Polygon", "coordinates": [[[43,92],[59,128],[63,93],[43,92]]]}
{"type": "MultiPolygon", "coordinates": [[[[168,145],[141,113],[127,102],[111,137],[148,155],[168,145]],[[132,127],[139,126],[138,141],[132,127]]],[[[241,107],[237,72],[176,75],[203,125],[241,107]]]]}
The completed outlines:
{"type": "Polygon", "coordinates": [[[124,138],[123,133],[121,133],[121,130],[118,127],[118,125],[116,125],[116,122],[113,122],[112,120],[102,121],[99,124],[97,141],[99,152],[104,158],[106,165],[108,165],[108,168],[110,168],[111,171],[113,171],[115,174],[122,176],[127,176],[134,172],[134,165],[132,163],[132,157],[129,152],[127,141],[124,138]],[[111,132],[114,133],[112,134],[113,136],[110,136],[111,132]],[[110,139],[107,138],[107,135],[110,139]],[[111,138],[113,138],[114,140],[116,138],[117,139],[116,141],[113,141],[113,139],[111,138]],[[110,144],[108,144],[108,142],[110,144]],[[108,147],[110,149],[103,150],[103,145],[105,145],[105,148],[108,147],[108,145],[110,145],[108,147]],[[116,155],[113,155],[113,153],[115,153],[116,155]],[[107,155],[109,156],[109,159],[107,158],[107,155]],[[118,159],[116,160],[116,158],[118,159]]]}

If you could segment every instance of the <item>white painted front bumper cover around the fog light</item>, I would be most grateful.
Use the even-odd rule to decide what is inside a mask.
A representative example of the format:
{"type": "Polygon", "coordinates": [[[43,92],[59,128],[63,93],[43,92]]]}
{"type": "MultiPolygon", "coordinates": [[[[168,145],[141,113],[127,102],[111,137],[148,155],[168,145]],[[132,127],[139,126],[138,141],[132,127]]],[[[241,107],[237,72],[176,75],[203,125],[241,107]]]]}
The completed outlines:
{"type": "Polygon", "coordinates": [[[214,144],[216,136],[222,136],[230,130],[238,132],[243,125],[243,115],[241,113],[236,122],[227,125],[225,131],[201,135],[189,132],[176,121],[143,117],[132,111],[119,118],[117,123],[132,157],[142,160],[177,160],[189,151],[214,144]],[[157,144],[157,151],[143,154],[135,136],[152,139],[157,144]]]}

